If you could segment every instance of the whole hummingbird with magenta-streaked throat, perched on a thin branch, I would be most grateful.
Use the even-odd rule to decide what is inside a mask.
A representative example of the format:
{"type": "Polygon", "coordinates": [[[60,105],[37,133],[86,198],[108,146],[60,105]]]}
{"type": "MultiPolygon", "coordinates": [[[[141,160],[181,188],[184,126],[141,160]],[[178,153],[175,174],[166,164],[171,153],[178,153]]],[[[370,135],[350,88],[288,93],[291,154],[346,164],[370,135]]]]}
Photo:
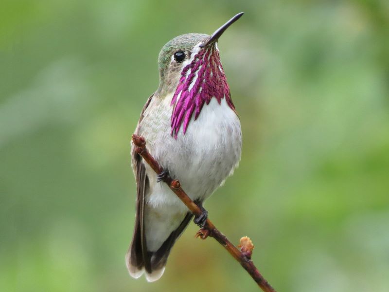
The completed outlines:
{"type": "Polygon", "coordinates": [[[238,166],[242,151],[240,120],[220,62],[217,41],[242,13],[211,36],[185,34],[166,43],[158,57],[159,87],[147,100],[135,133],[162,166],[156,174],[131,149],[137,183],[136,216],[126,254],[129,274],[158,280],[169,253],[193,214],[163,183],[169,175],[180,181],[202,210],[195,223],[203,226],[203,202],[238,166]]]}

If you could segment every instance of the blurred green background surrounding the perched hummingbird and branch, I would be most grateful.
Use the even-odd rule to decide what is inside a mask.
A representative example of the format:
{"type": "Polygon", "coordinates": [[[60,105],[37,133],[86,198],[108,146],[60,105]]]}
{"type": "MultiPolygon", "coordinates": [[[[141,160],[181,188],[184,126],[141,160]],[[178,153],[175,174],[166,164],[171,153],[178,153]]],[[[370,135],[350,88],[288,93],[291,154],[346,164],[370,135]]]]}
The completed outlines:
{"type": "Polygon", "coordinates": [[[210,218],[280,292],[389,287],[389,2],[2,0],[0,291],[258,291],[191,224],[163,277],[124,264],[129,142],[171,38],[212,33],[243,128],[210,218]]]}

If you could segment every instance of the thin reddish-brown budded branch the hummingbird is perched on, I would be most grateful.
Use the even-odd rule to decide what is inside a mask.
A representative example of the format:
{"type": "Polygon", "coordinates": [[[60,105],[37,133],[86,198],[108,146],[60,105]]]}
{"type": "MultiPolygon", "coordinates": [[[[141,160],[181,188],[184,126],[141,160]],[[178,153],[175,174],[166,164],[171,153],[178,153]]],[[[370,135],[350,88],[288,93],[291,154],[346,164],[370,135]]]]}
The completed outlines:
{"type": "MultiPolygon", "coordinates": [[[[159,165],[159,163],[154,159],[154,157],[148,152],[146,148],[146,141],[143,137],[138,135],[132,135],[132,141],[134,143],[135,151],[139,153],[144,161],[151,166],[151,168],[157,173],[161,173],[163,168],[159,165]]],[[[197,206],[197,204],[189,198],[189,196],[184,192],[181,188],[181,184],[177,180],[173,180],[170,176],[166,176],[164,182],[169,185],[172,191],[177,195],[177,197],[188,207],[188,209],[195,215],[201,215],[201,209],[197,206]]],[[[258,284],[258,286],[265,292],[276,292],[273,287],[265,280],[261,273],[259,273],[258,269],[255,267],[254,263],[251,260],[251,252],[254,246],[252,242],[249,240],[249,243],[252,245],[248,245],[246,239],[241,239],[242,251],[241,252],[237,247],[235,247],[230,240],[222,234],[216,227],[213,225],[210,219],[207,219],[204,227],[202,227],[197,236],[205,239],[210,236],[216,239],[224,248],[233,256],[241,266],[250,274],[250,276],[254,279],[254,281],[258,284]],[[243,240],[243,241],[242,241],[243,240]],[[249,252],[247,252],[247,249],[249,252]]]]}

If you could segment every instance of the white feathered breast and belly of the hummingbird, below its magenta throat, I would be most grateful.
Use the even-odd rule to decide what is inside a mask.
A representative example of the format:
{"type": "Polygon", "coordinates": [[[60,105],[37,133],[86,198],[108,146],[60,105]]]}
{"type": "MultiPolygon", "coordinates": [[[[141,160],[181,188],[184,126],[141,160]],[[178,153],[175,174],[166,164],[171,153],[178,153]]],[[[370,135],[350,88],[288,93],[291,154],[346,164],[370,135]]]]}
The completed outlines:
{"type": "MultiPolygon", "coordinates": [[[[203,201],[224,183],[239,163],[242,148],[239,118],[225,99],[218,104],[212,98],[197,120],[192,117],[185,135],[181,127],[175,139],[170,134],[170,101],[171,97],[153,98],[138,133],[146,139],[149,152],[169,170],[173,179],[181,182],[189,197],[203,201]]],[[[148,165],[146,173],[151,188],[146,196],[146,238],[160,238],[147,241],[153,250],[178,227],[188,209],[165,183],[156,182],[156,173],[148,165]]]]}

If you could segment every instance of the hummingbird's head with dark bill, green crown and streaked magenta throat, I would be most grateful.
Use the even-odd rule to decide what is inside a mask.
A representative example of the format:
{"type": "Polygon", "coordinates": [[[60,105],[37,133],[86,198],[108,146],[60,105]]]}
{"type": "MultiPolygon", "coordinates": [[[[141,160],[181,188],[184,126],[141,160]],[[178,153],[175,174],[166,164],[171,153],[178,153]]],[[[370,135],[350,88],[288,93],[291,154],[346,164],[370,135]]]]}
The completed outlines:
{"type": "Polygon", "coordinates": [[[192,114],[197,119],[205,104],[212,97],[219,103],[223,98],[234,109],[230,98],[230,89],[226,75],[220,62],[219,49],[216,42],[224,31],[242,13],[235,15],[211,36],[206,34],[185,34],[173,38],[163,46],[159,53],[159,89],[158,93],[167,95],[174,92],[171,105],[172,134],[177,133],[183,125],[185,134],[192,114]]]}

